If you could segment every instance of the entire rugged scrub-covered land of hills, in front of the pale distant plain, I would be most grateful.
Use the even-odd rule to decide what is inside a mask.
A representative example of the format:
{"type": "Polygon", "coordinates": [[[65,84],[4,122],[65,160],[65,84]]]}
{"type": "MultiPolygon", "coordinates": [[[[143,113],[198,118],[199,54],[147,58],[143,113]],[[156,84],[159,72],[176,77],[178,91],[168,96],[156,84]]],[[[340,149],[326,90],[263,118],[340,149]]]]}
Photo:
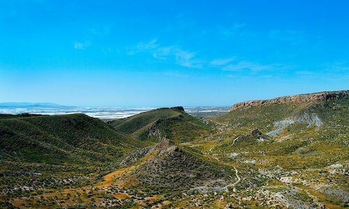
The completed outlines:
{"type": "Polygon", "coordinates": [[[0,208],[348,208],[348,91],[262,101],[0,115],[0,208]]]}

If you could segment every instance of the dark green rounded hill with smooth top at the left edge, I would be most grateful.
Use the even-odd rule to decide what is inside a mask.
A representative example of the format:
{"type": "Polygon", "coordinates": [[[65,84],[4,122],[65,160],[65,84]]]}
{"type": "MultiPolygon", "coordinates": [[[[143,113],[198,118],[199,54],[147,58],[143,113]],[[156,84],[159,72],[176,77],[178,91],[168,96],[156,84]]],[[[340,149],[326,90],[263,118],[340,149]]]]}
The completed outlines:
{"type": "Polygon", "coordinates": [[[3,117],[1,157],[29,162],[91,162],[117,160],[135,141],[102,121],[84,114],[3,117]]]}

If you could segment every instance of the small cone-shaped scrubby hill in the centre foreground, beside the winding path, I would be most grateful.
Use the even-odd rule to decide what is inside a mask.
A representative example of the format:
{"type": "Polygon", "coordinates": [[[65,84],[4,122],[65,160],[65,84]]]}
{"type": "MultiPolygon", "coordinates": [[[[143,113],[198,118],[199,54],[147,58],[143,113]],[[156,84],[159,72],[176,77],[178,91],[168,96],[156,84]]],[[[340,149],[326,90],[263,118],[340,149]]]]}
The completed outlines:
{"type": "Polygon", "coordinates": [[[178,146],[156,150],[154,157],[135,169],[133,175],[142,187],[152,187],[156,191],[171,189],[172,192],[225,191],[225,185],[237,180],[229,177],[235,172],[228,167],[219,167],[178,146]]]}

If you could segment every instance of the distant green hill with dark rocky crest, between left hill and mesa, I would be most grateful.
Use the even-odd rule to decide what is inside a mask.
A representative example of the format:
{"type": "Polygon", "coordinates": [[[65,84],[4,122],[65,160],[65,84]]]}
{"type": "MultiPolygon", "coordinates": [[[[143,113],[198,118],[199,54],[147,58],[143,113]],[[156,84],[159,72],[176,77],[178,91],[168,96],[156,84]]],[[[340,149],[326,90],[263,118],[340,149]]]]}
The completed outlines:
{"type": "Polygon", "coordinates": [[[209,132],[209,125],[186,114],[183,107],[160,108],[108,122],[115,130],[135,139],[193,141],[209,132]]]}

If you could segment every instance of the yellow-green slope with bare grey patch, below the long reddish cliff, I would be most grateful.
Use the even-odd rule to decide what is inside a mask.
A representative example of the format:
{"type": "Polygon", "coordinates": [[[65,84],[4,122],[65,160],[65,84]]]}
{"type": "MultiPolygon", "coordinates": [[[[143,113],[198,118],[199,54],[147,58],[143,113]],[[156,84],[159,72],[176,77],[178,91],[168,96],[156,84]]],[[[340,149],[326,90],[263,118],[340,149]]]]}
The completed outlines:
{"type": "Polygon", "coordinates": [[[349,160],[349,98],[242,107],[215,118],[225,124],[213,149],[230,161],[287,169],[321,168],[349,160]],[[258,130],[260,134],[253,134],[258,130]],[[242,152],[241,150],[244,150],[242,152]],[[239,157],[236,157],[239,156],[239,157]]]}

